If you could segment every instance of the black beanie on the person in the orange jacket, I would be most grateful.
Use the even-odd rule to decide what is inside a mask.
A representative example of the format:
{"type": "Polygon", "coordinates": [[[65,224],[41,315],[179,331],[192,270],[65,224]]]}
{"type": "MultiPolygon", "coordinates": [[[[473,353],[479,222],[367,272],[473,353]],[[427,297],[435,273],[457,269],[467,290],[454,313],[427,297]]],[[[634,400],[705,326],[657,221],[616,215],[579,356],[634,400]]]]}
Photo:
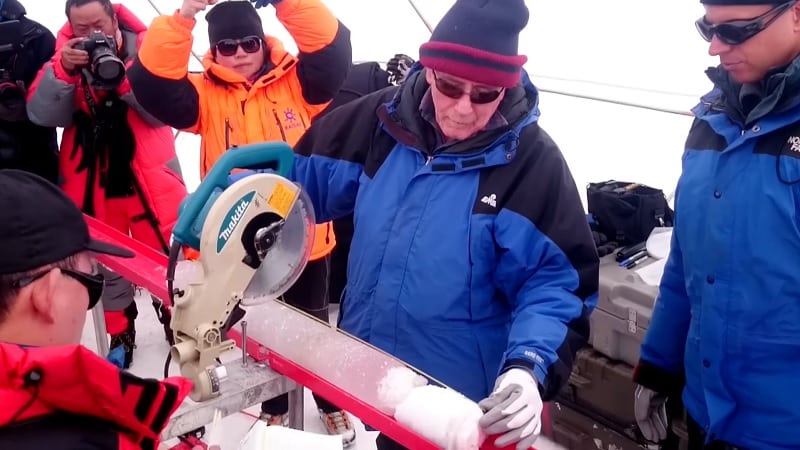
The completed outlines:
{"type": "Polygon", "coordinates": [[[247,0],[228,0],[206,14],[208,42],[213,47],[223,39],[264,37],[264,28],[256,8],[247,0]]]}

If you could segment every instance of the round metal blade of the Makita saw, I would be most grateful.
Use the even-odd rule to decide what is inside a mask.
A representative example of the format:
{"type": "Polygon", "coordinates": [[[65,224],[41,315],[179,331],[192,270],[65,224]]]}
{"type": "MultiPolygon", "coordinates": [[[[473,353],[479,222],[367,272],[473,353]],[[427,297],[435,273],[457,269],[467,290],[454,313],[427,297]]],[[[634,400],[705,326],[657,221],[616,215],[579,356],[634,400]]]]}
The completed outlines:
{"type": "Polygon", "coordinates": [[[311,200],[301,189],[274,244],[245,289],[243,305],[275,300],[292,287],[311,256],[315,225],[311,200]]]}

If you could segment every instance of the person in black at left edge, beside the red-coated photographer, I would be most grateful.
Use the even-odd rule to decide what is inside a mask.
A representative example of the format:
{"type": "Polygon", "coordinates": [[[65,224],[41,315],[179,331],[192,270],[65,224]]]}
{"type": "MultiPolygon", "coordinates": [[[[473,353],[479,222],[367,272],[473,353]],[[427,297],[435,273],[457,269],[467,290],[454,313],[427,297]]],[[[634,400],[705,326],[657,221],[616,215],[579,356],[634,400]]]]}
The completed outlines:
{"type": "Polygon", "coordinates": [[[53,33],[27,18],[17,0],[0,0],[0,169],[33,172],[54,183],[56,129],[28,120],[25,96],[55,44],[53,33]]]}

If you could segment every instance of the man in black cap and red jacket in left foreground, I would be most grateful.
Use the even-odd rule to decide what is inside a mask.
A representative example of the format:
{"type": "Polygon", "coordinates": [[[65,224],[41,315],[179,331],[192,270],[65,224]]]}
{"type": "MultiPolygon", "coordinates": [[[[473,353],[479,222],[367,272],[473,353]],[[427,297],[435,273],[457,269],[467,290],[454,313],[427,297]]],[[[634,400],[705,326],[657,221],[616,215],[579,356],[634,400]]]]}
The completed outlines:
{"type": "Polygon", "coordinates": [[[79,345],[103,291],[93,254],[133,254],[90,239],[74,202],[30,172],[0,170],[0,211],[0,448],[159,448],[191,382],[141,379],[79,345]]]}

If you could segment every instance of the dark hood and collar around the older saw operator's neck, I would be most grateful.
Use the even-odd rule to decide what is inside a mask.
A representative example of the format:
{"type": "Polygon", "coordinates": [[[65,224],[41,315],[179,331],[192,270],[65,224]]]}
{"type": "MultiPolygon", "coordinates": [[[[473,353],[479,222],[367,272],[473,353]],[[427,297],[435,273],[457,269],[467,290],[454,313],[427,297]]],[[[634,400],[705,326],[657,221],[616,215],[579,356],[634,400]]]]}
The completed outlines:
{"type": "MultiPolygon", "coordinates": [[[[425,149],[431,153],[431,125],[419,114],[419,105],[425,93],[430,89],[425,79],[424,67],[419,62],[409,70],[406,81],[397,90],[392,100],[384,105],[385,117],[381,117],[387,130],[399,141],[425,149]],[[413,138],[412,138],[413,136],[413,138]],[[404,138],[405,137],[405,138],[404,138]]],[[[499,135],[514,130],[519,133],[525,125],[534,123],[539,118],[539,92],[522,71],[520,84],[506,91],[505,97],[498,106],[498,111],[505,117],[508,126],[478,133],[475,137],[456,142],[448,146],[448,153],[475,151],[494,141],[499,135]]],[[[379,116],[382,116],[379,111],[379,116]]]]}

